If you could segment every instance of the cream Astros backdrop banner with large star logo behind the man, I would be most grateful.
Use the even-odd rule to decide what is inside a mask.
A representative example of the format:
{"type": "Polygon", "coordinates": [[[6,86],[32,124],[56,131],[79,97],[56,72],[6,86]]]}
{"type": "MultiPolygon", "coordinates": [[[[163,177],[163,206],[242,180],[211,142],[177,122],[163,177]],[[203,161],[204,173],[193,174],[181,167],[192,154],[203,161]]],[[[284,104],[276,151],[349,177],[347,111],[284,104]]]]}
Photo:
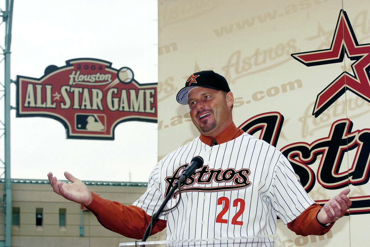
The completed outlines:
{"type": "Polygon", "coordinates": [[[277,223],[284,246],[367,246],[370,221],[369,0],[159,0],[158,158],[199,136],[176,93],[213,70],[237,127],[276,146],[309,195],[343,188],[352,207],[324,236],[277,223]]]}

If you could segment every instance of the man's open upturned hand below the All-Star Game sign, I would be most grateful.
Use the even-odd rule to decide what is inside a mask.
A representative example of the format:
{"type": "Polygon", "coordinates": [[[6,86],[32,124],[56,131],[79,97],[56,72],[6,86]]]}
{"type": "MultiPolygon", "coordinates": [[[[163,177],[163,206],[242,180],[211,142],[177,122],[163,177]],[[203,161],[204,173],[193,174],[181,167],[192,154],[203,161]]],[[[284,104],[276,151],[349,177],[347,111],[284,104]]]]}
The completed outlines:
{"type": "Polygon", "coordinates": [[[47,174],[54,192],[68,200],[83,204],[84,206],[90,204],[92,201],[92,193],[88,190],[87,186],[67,171],[64,172],[64,176],[72,183],[68,184],[57,180],[56,177],[53,177],[53,173],[51,172],[47,174]]]}

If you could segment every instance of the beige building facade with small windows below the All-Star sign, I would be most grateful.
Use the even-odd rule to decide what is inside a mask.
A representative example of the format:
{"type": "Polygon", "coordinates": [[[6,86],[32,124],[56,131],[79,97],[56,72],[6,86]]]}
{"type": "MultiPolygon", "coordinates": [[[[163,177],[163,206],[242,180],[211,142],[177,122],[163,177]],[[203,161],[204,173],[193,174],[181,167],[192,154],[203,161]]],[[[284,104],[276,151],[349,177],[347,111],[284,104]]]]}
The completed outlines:
{"type": "MultiPolygon", "coordinates": [[[[0,181],[0,193],[4,181],[0,181]]],[[[84,181],[91,191],[112,201],[132,204],[147,183],[84,181]]],[[[134,239],[100,225],[80,204],[55,194],[48,180],[12,179],[11,246],[14,247],[118,247],[134,239]]],[[[4,214],[0,214],[4,239],[4,214]]],[[[148,241],[157,240],[151,236],[148,241]]]]}

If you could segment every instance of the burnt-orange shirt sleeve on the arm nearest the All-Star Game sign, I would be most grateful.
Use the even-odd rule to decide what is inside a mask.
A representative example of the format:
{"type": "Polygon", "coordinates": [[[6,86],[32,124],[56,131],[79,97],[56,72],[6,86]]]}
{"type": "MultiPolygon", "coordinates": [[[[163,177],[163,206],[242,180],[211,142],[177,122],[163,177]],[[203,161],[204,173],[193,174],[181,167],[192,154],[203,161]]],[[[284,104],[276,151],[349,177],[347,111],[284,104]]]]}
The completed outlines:
{"type": "MultiPolygon", "coordinates": [[[[88,206],[105,228],[125,237],[141,239],[150,223],[151,217],[141,208],[125,206],[117,201],[104,199],[92,192],[92,201],[88,206]]],[[[167,221],[159,219],[152,228],[152,234],[166,228],[167,221]]]]}

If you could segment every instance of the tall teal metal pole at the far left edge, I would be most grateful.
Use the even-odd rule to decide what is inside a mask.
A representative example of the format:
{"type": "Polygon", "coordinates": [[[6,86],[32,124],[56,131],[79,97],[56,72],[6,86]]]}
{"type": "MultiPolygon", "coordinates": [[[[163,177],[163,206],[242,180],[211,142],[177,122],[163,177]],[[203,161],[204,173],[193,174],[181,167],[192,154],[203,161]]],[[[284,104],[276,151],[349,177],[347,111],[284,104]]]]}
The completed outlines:
{"type": "Polygon", "coordinates": [[[5,34],[5,97],[4,97],[4,125],[5,125],[5,183],[4,183],[4,203],[5,203],[5,246],[10,247],[11,238],[11,176],[10,176],[10,43],[11,43],[11,21],[13,17],[13,0],[6,1],[6,34],[5,34]]]}

